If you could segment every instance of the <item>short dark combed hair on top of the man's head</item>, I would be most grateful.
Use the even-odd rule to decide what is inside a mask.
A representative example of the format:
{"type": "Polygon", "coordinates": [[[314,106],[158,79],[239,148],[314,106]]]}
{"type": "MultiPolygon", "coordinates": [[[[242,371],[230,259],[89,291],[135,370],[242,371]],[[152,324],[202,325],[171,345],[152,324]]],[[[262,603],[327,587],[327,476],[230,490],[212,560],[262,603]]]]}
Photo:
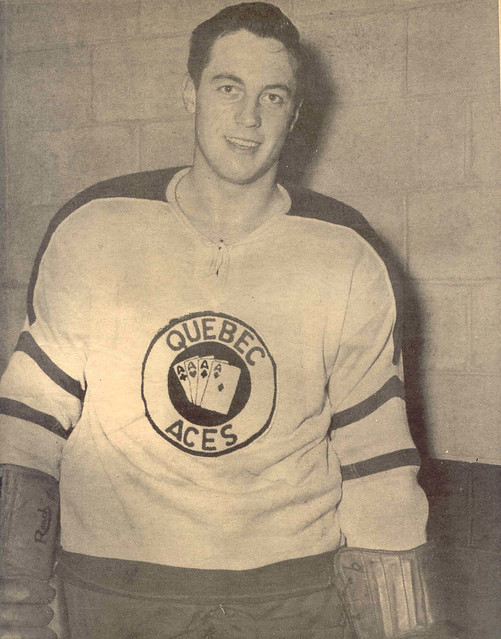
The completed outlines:
{"type": "Polygon", "coordinates": [[[214,42],[224,35],[246,30],[260,38],[281,42],[297,63],[296,101],[304,91],[306,54],[299,41],[299,31],[278,7],[267,2],[244,2],[226,7],[195,28],[191,34],[188,73],[198,89],[200,78],[209,64],[214,42]]]}

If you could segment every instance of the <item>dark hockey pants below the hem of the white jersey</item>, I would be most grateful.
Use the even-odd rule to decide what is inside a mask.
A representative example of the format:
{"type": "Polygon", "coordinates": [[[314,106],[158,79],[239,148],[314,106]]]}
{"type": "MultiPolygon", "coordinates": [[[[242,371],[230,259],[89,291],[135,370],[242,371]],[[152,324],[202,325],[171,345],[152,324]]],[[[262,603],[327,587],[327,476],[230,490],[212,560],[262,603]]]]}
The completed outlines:
{"type": "Polygon", "coordinates": [[[195,570],[63,553],[71,639],[348,639],[333,553],[195,570]]]}

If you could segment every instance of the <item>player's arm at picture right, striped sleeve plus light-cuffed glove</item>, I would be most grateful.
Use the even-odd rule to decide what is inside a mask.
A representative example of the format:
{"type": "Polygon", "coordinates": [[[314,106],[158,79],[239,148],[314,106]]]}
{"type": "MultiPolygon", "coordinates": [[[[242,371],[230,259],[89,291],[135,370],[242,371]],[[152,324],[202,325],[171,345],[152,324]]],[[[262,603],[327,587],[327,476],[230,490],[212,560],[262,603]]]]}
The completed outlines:
{"type": "Polygon", "coordinates": [[[353,273],[329,383],[346,539],[337,585],[359,639],[438,639],[451,635],[435,625],[428,503],[417,482],[395,318],[386,268],[367,247],[353,273]]]}

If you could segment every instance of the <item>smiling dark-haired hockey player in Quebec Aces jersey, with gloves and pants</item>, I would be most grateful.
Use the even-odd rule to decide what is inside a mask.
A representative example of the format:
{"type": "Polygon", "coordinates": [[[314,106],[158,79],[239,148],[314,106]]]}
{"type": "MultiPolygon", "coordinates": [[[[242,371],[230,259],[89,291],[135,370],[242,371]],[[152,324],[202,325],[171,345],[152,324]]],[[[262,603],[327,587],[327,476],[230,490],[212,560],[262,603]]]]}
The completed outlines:
{"type": "Polygon", "coordinates": [[[224,9],[188,70],[193,165],[80,194],[34,267],[1,387],[0,637],[53,636],[59,491],[72,639],[335,639],[345,612],[425,636],[390,279],[355,212],[276,183],[298,32],[224,9]]]}

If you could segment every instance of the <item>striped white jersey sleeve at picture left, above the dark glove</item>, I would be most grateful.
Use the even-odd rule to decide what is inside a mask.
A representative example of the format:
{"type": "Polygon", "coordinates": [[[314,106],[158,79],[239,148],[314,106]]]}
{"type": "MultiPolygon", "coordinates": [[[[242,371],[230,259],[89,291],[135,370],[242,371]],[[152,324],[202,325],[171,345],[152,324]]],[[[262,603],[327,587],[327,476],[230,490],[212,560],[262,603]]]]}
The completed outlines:
{"type": "Polygon", "coordinates": [[[84,398],[88,291],[62,224],[36,264],[27,320],[0,382],[0,463],[58,477],[84,398]]]}

